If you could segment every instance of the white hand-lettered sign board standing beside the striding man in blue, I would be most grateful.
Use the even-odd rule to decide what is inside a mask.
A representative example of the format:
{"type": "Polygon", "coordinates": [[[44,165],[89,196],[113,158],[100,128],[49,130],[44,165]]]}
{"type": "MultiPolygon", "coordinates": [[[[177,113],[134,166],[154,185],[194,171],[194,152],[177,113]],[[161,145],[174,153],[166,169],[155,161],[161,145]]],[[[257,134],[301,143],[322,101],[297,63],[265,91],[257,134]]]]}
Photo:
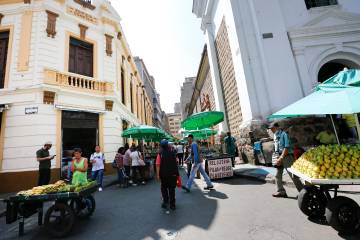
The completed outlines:
{"type": "Polygon", "coordinates": [[[208,160],[210,179],[232,177],[234,175],[231,158],[208,160]]]}

